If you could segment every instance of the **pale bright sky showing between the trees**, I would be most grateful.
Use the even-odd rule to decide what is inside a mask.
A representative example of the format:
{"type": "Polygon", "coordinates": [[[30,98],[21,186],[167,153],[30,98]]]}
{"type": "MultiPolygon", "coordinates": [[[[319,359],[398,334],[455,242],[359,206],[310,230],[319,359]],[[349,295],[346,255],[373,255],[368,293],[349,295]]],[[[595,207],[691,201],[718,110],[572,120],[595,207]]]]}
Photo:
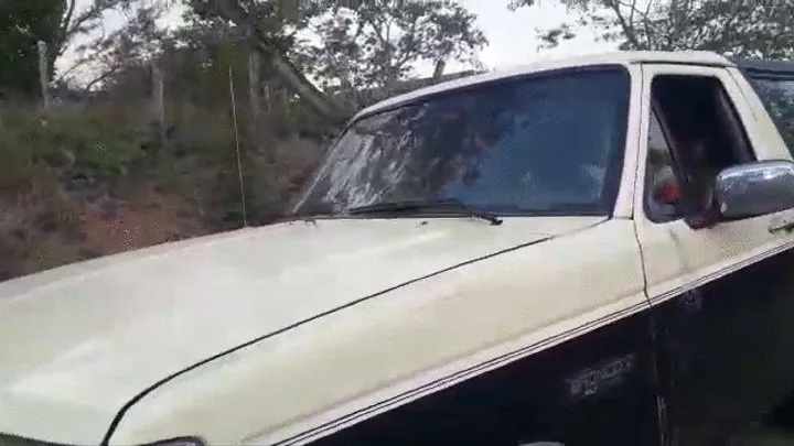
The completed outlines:
{"type": "MultiPolygon", "coordinates": [[[[85,7],[94,0],[77,0],[78,6],[85,7]]],[[[152,1],[152,0],[150,0],[152,1]]],[[[588,54],[613,50],[614,44],[596,42],[593,35],[584,33],[568,41],[554,50],[538,53],[536,29],[555,26],[567,19],[565,9],[554,0],[539,1],[539,6],[522,8],[517,11],[507,9],[509,0],[459,0],[469,11],[478,15],[478,25],[485,33],[490,43],[480,52],[480,59],[490,69],[498,69],[515,65],[532,63],[544,57],[588,54]]],[[[174,10],[168,14],[163,24],[178,23],[180,11],[174,10]]],[[[124,23],[124,15],[112,14],[105,21],[105,31],[109,32],[124,23]]],[[[72,57],[65,57],[58,68],[65,69],[72,57]]],[[[452,73],[465,69],[466,66],[450,63],[447,72],[452,73]]],[[[419,74],[432,73],[430,64],[420,64],[419,74]]]]}

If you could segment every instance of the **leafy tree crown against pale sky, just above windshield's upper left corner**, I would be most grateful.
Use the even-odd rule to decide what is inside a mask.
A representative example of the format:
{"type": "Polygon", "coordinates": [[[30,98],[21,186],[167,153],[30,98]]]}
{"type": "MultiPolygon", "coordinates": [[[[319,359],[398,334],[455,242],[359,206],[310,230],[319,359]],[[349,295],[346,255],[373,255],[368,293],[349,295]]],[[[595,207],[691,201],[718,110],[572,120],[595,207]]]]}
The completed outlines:
{"type": "MultiPolygon", "coordinates": [[[[326,89],[389,91],[419,61],[433,63],[440,78],[448,59],[474,62],[487,43],[475,15],[452,0],[367,1],[355,10],[332,3],[311,28],[320,43],[305,51],[326,89]]],[[[356,106],[368,101],[353,96],[356,106]]]]}

